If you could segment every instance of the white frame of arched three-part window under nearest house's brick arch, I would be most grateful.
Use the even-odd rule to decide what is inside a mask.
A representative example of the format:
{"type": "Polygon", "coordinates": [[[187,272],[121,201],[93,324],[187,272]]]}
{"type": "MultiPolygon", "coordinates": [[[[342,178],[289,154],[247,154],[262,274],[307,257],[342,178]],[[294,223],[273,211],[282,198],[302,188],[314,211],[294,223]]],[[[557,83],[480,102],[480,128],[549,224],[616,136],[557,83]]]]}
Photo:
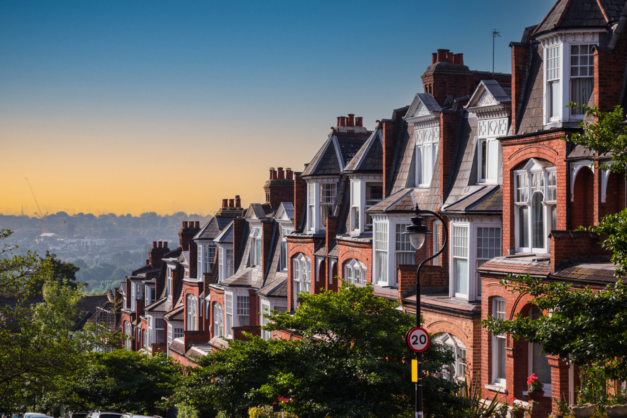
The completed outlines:
{"type": "MultiPolygon", "coordinates": [[[[537,179],[538,177],[536,177],[537,179]]],[[[551,233],[553,222],[557,222],[557,184],[549,182],[557,181],[557,167],[544,167],[535,159],[530,159],[525,164],[524,169],[514,170],[514,222],[515,222],[515,248],[517,253],[540,253],[547,254],[551,251],[549,233],[551,233]],[[540,175],[540,188],[535,190],[537,185],[532,184],[534,174],[540,175]],[[522,176],[522,177],[521,177],[522,176]],[[526,185],[520,184],[526,179],[526,185]],[[534,192],[542,192],[542,216],[544,246],[534,246],[534,192]],[[551,199],[551,200],[549,200],[551,199]],[[526,231],[522,231],[521,209],[527,208],[526,231]],[[522,233],[527,234],[527,246],[524,246],[521,239],[522,233]]]]}

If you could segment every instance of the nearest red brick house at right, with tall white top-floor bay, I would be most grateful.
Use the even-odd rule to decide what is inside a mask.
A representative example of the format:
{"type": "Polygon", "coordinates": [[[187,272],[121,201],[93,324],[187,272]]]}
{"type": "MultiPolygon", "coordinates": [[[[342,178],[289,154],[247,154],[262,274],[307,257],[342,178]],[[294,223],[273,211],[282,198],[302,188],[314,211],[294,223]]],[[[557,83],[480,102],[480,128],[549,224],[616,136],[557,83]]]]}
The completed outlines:
{"type": "MultiPolygon", "coordinates": [[[[512,42],[512,129],[502,149],[502,254],[478,268],[482,318],[543,315],[529,296],[512,295],[499,281],[507,274],[602,288],[614,266],[596,234],[574,231],[625,207],[624,174],[602,172],[611,160],[562,140],[584,118],[569,102],[611,110],[625,104],[627,23],[624,1],[564,1],[512,42]]],[[[527,398],[525,377],[544,382],[533,416],[558,412],[553,399],[575,401],[577,368],[542,353],[542,347],[481,330],[481,379],[488,393],[527,398]]]]}

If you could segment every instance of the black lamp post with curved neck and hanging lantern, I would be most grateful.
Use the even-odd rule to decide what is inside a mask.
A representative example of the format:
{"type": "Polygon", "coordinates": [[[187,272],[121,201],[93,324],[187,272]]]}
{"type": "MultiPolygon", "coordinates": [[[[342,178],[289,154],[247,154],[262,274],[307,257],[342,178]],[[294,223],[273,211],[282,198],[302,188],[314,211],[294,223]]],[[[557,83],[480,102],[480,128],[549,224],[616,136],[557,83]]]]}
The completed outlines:
{"type": "MultiPolygon", "coordinates": [[[[442,247],[440,251],[433,254],[431,257],[425,258],[419,265],[416,270],[416,327],[420,327],[420,269],[423,265],[437,256],[439,256],[444,248],[446,247],[446,243],[448,241],[448,227],[446,227],[446,222],[442,217],[436,212],[433,211],[421,211],[418,208],[418,204],[416,204],[416,209],[413,211],[416,216],[411,217],[411,225],[408,225],[405,228],[405,232],[403,234],[407,234],[409,236],[409,242],[411,246],[415,249],[419,249],[424,244],[424,239],[428,234],[433,234],[429,231],[429,227],[423,225],[423,217],[420,216],[421,213],[431,214],[438,219],[440,219],[440,224],[444,228],[444,240],[442,241],[442,247]]],[[[418,382],[416,382],[416,418],[423,417],[423,353],[416,353],[416,362],[418,362],[418,382]]]]}

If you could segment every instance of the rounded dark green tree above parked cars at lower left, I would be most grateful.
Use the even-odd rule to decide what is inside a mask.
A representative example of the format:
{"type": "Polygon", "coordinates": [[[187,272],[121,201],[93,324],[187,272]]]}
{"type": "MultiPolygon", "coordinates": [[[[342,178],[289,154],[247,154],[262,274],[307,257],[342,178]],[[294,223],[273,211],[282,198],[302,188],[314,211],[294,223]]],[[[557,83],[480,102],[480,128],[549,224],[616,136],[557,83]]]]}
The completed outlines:
{"type": "Polygon", "coordinates": [[[75,409],[108,409],[152,415],[163,397],[174,394],[181,366],[164,353],[129,350],[90,353],[66,387],[75,409]]]}

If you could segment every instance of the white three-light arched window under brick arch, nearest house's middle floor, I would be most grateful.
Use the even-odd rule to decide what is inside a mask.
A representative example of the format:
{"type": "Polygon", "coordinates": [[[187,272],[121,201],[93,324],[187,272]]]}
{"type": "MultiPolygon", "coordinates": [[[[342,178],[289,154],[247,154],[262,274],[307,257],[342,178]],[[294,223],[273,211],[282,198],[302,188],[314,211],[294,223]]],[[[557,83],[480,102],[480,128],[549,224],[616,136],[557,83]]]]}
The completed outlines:
{"type": "Polygon", "coordinates": [[[514,171],[517,251],[549,253],[548,236],[557,224],[557,172],[551,163],[531,159],[514,171]]]}

